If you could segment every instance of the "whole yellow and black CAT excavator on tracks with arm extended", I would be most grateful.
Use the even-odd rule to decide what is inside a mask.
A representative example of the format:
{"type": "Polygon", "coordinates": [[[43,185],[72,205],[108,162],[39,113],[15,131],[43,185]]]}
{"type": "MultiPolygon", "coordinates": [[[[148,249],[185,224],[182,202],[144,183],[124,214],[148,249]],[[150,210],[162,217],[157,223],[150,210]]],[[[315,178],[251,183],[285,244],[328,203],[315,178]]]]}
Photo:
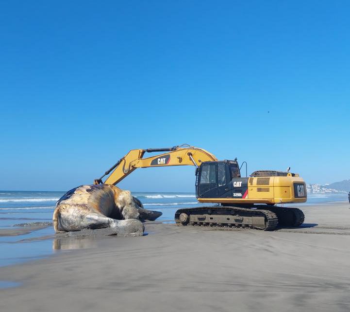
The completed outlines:
{"type": "Polygon", "coordinates": [[[257,170],[249,177],[241,177],[237,159],[218,161],[205,149],[187,144],[170,148],[133,149],[94,184],[115,185],[136,168],[178,165],[194,165],[197,200],[218,205],[179,209],[175,213],[177,225],[247,227],[272,231],[278,226],[298,227],[304,221],[300,209],[276,205],[307,200],[304,180],[299,174],[289,172],[290,168],[287,171],[257,170]],[[143,158],[145,153],[151,152],[163,153],[143,158]],[[108,177],[102,182],[105,176],[108,177]]]}

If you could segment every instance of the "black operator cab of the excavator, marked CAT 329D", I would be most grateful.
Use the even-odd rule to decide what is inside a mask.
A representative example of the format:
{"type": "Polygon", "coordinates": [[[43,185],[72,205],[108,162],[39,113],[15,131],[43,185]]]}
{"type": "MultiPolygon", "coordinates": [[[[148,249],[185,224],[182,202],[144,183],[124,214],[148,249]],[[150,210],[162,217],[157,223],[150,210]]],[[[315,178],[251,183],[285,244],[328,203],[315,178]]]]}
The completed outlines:
{"type": "Polygon", "coordinates": [[[197,198],[244,198],[248,190],[236,160],[203,162],[196,175],[197,198]]]}

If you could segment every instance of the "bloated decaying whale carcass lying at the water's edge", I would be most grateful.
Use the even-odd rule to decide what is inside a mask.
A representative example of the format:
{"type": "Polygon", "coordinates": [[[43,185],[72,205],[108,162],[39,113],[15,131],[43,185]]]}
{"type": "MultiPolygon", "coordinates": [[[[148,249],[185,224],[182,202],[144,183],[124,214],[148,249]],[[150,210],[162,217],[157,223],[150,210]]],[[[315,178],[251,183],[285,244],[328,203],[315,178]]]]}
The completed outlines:
{"type": "Polygon", "coordinates": [[[155,220],[161,215],[144,209],[130,191],[102,184],[69,190],[57,201],[52,220],[56,233],[110,228],[115,234],[142,236],[141,221],[155,220]]]}

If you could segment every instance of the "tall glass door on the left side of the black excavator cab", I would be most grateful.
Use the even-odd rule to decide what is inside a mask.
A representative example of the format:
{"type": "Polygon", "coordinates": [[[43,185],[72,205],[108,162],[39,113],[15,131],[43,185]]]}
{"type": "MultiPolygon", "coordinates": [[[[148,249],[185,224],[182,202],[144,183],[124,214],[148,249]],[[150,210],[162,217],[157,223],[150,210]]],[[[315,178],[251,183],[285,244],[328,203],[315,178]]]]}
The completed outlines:
{"type": "Polygon", "coordinates": [[[200,165],[198,181],[199,198],[217,198],[217,163],[200,165]]]}

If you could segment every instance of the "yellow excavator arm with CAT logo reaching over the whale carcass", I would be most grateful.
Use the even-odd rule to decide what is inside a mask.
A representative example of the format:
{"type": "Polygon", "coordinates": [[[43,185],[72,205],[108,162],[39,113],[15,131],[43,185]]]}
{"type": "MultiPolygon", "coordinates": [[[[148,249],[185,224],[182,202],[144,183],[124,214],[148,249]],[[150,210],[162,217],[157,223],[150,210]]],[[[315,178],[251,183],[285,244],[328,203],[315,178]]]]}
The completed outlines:
{"type": "Polygon", "coordinates": [[[207,161],[217,161],[217,158],[205,149],[192,147],[189,145],[175,146],[170,148],[132,149],[114,166],[107,170],[105,174],[100,177],[100,179],[96,179],[94,181],[94,184],[115,185],[130,173],[132,173],[136,168],[179,165],[194,165],[198,167],[202,162],[207,161]],[[143,158],[145,153],[151,152],[166,153],[143,158]],[[111,173],[112,170],[113,172],[111,173]],[[103,177],[106,175],[109,175],[109,177],[104,182],[102,182],[103,177]]]}

